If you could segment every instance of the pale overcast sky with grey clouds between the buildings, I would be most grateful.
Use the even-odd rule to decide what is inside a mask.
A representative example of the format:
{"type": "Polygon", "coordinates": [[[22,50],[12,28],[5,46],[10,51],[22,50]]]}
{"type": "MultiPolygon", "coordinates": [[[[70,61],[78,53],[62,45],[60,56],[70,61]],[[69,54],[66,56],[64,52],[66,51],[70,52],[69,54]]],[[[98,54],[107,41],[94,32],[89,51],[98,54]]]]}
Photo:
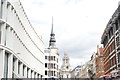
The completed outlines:
{"type": "Polygon", "coordinates": [[[56,46],[73,67],[90,60],[119,0],[21,0],[25,12],[48,47],[52,16],[56,46]]]}

